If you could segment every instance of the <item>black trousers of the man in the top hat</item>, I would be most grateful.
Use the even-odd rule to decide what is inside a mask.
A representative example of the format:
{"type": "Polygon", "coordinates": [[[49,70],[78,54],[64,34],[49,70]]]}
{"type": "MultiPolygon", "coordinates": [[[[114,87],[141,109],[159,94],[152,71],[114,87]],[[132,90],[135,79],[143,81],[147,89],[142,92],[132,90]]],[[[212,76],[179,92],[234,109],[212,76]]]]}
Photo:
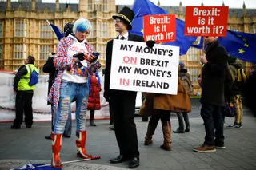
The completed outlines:
{"type": "Polygon", "coordinates": [[[134,122],[136,92],[115,90],[110,97],[114,114],[114,132],[120,154],[139,156],[137,129],[134,122]]]}

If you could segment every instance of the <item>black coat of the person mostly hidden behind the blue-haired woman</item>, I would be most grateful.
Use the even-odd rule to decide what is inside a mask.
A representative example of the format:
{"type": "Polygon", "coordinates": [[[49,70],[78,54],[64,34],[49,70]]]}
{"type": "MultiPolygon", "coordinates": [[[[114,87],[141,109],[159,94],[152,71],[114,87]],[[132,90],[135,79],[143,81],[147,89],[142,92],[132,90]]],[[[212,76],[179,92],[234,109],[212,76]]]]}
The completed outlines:
{"type": "MultiPolygon", "coordinates": [[[[48,80],[48,94],[50,92],[51,86],[54,84],[55,72],[56,69],[54,67],[54,57],[48,57],[46,64],[42,67],[43,73],[49,73],[49,80],[48,80]]],[[[50,103],[48,102],[48,105],[50,103]]]]}

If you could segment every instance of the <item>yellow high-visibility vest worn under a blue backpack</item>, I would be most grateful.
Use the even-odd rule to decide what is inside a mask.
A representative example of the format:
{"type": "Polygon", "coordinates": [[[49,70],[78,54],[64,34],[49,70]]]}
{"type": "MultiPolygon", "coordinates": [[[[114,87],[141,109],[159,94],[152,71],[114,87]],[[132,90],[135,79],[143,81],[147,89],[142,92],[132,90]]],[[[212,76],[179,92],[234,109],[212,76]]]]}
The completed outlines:
{"type": "Polygon", "coordinates": [[[34,90],[35,85],[32,85],[32,86],[29,85],[30,73],[31,73],[30,68],[31,68],[31,71],[35,70],[37,73],[38,73],[38,69],[32,64],[28,64],[28,65],[25,65],[27,70],[26,75],[23,76],[20,81],[18,81],[19,91],[34,90]],[[28,65],[30,65],[30,67],[28,65]]]}

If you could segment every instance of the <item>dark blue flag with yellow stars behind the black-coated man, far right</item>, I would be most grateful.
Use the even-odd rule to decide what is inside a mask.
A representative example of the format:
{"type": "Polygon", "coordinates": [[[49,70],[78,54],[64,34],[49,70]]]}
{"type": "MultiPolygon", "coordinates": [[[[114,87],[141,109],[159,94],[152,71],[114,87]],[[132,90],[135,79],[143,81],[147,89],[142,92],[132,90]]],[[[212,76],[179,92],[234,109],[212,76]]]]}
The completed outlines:
{"type": "MultiPolygon", "coordinates": [[[[218,42],[231,56],[256,64],[256,34],[227,30],[226,37],[218,38],[218,42]]],[[[200,44],[191,46],[202,49],[202,38],[200,44]]]]}

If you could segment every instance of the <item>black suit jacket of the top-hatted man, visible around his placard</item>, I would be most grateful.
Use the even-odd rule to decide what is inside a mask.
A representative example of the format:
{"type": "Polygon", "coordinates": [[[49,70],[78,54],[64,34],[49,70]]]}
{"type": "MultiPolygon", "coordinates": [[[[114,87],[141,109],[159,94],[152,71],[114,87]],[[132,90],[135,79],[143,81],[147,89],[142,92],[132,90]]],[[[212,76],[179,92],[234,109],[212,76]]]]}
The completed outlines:
{"type": "MultiPolygon", "coordinates": [[[[118,39],[118,37],[115,39],[118,39]]],[[[129,33],[128,41],[144,42],[144,38],[142,36],[129,33]]],[[[112,51],[113,51],[113,40],[110,40],[110,42],[107,42],[107,45],[106,45],[106,69],[105,69],[105,81],[104,81],[104,91],[106,93],[113,92],[112,90],[110,90],[110,69],[111,69],[111,61],[112,61],[112,51]]]]}

